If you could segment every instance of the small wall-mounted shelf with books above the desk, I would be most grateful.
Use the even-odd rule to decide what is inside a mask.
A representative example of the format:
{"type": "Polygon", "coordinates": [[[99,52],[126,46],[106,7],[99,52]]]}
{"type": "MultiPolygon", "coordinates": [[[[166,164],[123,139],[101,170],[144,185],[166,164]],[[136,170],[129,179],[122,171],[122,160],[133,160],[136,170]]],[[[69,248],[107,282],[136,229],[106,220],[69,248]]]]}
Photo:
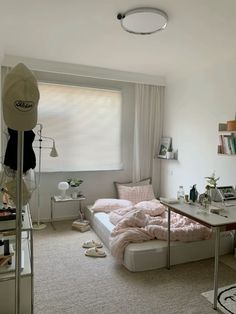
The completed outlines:
{"type": "Polygon", "coordinates": [[[217,153],[220,156],[236,156],[236,131],[227,131],[226,123],[219,123],[219,145],[217,153]]]}

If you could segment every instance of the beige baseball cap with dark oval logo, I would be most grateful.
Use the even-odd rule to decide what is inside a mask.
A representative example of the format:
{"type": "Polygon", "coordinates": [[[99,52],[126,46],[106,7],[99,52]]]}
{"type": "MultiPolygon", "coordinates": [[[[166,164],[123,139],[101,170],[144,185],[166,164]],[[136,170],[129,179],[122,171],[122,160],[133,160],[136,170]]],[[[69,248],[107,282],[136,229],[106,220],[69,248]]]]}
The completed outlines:
{"type": "Polygon", "coordinates": [[[37,124],[39,90],[33,73],[17,64],[3,83],[2,103],[4,121],[12,130],[29,131],[37,124]]]}

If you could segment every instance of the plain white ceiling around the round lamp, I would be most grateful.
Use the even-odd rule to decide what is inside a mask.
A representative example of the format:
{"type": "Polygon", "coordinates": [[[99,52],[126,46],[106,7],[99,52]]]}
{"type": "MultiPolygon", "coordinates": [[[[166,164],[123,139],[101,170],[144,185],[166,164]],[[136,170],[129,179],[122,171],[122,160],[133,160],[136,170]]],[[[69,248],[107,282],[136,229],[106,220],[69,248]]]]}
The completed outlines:
{"type": "Polygon", "coordinates": [[[236,56],[236,0],[0,0],[0,57],[16,55],[168,76],[236,56]],[[122,30],[137,7],[169,16],[153,35],[122,30]]]}

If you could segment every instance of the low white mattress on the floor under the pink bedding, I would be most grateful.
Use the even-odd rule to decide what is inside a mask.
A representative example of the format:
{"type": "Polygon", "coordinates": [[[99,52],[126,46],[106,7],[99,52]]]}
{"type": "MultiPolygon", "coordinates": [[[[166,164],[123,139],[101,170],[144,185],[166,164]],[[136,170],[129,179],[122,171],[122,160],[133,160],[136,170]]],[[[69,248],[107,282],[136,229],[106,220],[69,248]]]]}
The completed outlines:
{"type": "MultiPolygon", "coordinates": [[[[106,213],[94,213],[91,206],[85,209],[85,215],[102,242],[109,249],[109,237],[114,225],[106,213]]],[[[232,252],[234,236],[232,232],[220,233],[220,254],[232,252]]],[[[214,256],[214,237],[210,240],[181,242],[171,241],[171,265],[197,261],[214,256]]],[[[132,271],[145,271],[166,266],[167,242],[150,240],[142,243],[130,243],[124,252],[124,266],[132,271]]]]}

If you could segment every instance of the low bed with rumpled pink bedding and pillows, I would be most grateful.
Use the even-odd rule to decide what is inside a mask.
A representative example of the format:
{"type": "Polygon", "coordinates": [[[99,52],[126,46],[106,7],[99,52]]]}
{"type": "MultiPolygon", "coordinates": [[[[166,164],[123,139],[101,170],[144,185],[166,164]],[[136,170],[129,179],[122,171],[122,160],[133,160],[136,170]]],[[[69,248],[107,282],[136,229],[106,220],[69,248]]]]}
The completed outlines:
{"type": "MultiPolygon", "coordinates": [[[[85,209],[86,218],[90,221],[93,230],[100,237],[106,247],[110,249],[111,254],[115,259],[119,263],[122,263],[129,271],[138,272],[165,267],[167,242],[164,235],[167,234],[167,228],[165,228],[165,233],[163,232],[162,226],[159,226],[157,228],[158,233],[154,233],[153,235],[153,226],[143,225],[143,222],[146,219],[146,214],[148,214],[148,223],[150,218],[149,215],[151,215],[151,224],[159,224],[159,218],[157,218],[157,222],[152,221],[153,219],[156,219],[156,215],[160,215],[161,217],[166,215],[165,208],[162,208],[160,211],[160,202],[155,198],[151,179],[147,178],[136,183],[114,182],[114,185],[117,199],[100,199],[97,200],[93,206],[87,206],[85,209]],[[151,203],[151,207],[149,203],[151,203]],[[126,229],[122,230],[124,227],[127,227],[127,230],[130,230],[130,227],[132,230],[132,227],[134,227],[134,230],[136,230],[135,224],[133,224],[134,220],[129,220],[130,217],[132,217],[130,212],[134,209],[133,207],[142,213],[139,219],[135,220],[135,224],[137,223],[138,227],[141,227],[137,230],[143,232],[144,229],[145,231],[144,234],[141,232],[141,240],[139,238],[139,243],[135,243],[134,238],[132,237],[132,239],[130,239],[128,236],[128,238],[126,238],[126,240],[128,240],[123,245],[122,256],[117,256],[116,251],[114,250],[114,247],[116,247],[115,245],[118,243],[118,241],[116,241],[116,236],[122,238],[122,231],[124,231],[124,234],[126,232],[126,229]],[[122,223],[122,219],[120,220],[120,218],[122,218],[120,214],[123,212],[123,209],[125,213],[124,217],[127,215],[130,216],[128,222],[126,221],[125,223],[122,223]],[[154,212],[152,211],[153,209],[154,212]],[[144,215],[142,212],[143,210],[144,215]],[[152,217],[152,215],[155,217],[152,217]],[[119,227],[121,227],[121,229],[119,229],[119,227]],[[149,227],[150,229],[148,229],[149,227]],[[148,232],[146,232],[146,230],[148,230],[148,232]],[[152,237],[149,237],[150,233],[152,234],[152,237]]],[[[176,218],[174,215],[178,214],[171,214],[171,219],[172,217],[174,217],[173,219],[176,218]]],[[[138,218],[138,215],[135,217],[138,218]]],[[[184,219],[187,218],[185,217],[184,219]]],[[[209,234],[211,231],[208,228],[198,224],[199,230],[197,231],[200,231],[200,237],[199,232],[195,237],[192,236],[192,234],[195,235],[195,233],[191,233],[188,241],[182,241],[182,225],[179,224],[180,233],[178,233],[178,228],[175,228],[176,226],[178,227],[178,224],[179,222],[177,219],[177,225],[175,221],[174,228],[171,227],[171,231],[177,230],[177,235],[180,235],[179,238],[175,235],[171,238],[171,265],[197,261],[214,256],[214,235],[209,234]],[[204,236],[202,237],[201,234],[204,234],[204,236]]],[[[191,227],[191,223],[190,225],[187,224],[187,226],[185,226],[187,230],[189,230],[189,227],[191,227]]],[[[137,237],[139,236],[140,234],[137,233],[137,237]]],[[[232,252],[234,247],[234,233],[221,232],[220,237],[220,254],[223,255],[232,252]]]]}

